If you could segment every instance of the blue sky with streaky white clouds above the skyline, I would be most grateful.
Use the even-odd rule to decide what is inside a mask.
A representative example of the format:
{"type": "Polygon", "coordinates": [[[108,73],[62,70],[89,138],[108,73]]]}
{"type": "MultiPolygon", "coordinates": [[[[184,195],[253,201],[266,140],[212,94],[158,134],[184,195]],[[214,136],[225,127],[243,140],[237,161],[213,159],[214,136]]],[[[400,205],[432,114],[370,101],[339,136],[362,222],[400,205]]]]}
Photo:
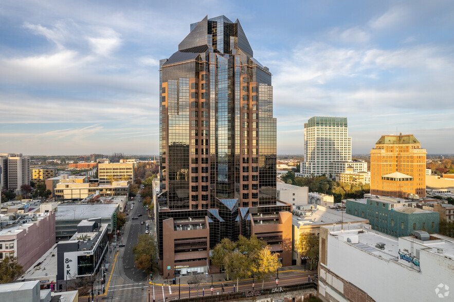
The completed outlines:
{"type": "Polygon", "coordinates": [[[312,116],[353,153],[413,134],[454,153],[452,1],[0,2],[0,152],[157,154],[160,59],[205,15],[237,18],[273,73],[278,154],[312,116]]]}

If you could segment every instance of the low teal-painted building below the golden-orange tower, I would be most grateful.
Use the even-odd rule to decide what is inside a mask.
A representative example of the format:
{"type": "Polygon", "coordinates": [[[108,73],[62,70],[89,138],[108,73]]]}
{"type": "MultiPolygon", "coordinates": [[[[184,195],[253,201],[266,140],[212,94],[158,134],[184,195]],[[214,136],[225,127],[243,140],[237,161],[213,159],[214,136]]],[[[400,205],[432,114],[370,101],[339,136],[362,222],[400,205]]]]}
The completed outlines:
{"type": "Polygon", "coordinates": [[[347,214],[369,219],[373,230],[402,237],[410,236],[415,230],[439,233],[438,212],[408,206],[405,200],[367,198],[347,200],[347,214]],[[403,202],[402,202],[403,201],[403,202]]]}

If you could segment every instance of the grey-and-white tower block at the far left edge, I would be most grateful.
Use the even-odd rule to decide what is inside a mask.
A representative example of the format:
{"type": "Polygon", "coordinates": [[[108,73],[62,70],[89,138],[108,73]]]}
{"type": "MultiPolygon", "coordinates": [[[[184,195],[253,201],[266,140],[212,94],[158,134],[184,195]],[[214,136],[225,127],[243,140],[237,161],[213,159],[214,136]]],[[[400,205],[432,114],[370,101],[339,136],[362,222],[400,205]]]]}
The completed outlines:
{"type": "Polygon", "coordinates": [[[22,154],[0,154],[2,189],[21,190],[23,184],[30,184],[30,159],[22,154]]]}

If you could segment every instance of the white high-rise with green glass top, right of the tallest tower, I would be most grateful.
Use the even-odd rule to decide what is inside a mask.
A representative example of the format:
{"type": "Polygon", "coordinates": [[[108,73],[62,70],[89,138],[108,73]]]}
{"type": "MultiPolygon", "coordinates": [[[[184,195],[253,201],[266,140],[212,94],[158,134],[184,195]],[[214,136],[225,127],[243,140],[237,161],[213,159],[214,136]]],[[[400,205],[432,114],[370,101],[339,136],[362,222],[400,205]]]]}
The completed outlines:
{"type": "Polygon", "coordinates": [[[334,178],[334,173],[344,172],[335,171],[334,162],[346,162],[345,167],[352,163],[352,138],[348,136],[347,118],[310,118],[304,123],[304,162],[301,162],[297,176],[334,178]]]}

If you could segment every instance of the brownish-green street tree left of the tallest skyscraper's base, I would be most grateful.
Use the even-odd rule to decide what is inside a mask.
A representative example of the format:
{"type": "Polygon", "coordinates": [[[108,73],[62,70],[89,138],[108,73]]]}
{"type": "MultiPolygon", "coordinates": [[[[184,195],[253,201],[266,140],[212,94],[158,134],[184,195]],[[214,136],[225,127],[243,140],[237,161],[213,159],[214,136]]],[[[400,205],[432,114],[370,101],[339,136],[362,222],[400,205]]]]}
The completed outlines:
{"type": "Polygon", "coordinates": [[[140,234],[136,246],[133,247],[136,268],[154,274],[158,271],[157,246],[154,237],[140,234]]]}

